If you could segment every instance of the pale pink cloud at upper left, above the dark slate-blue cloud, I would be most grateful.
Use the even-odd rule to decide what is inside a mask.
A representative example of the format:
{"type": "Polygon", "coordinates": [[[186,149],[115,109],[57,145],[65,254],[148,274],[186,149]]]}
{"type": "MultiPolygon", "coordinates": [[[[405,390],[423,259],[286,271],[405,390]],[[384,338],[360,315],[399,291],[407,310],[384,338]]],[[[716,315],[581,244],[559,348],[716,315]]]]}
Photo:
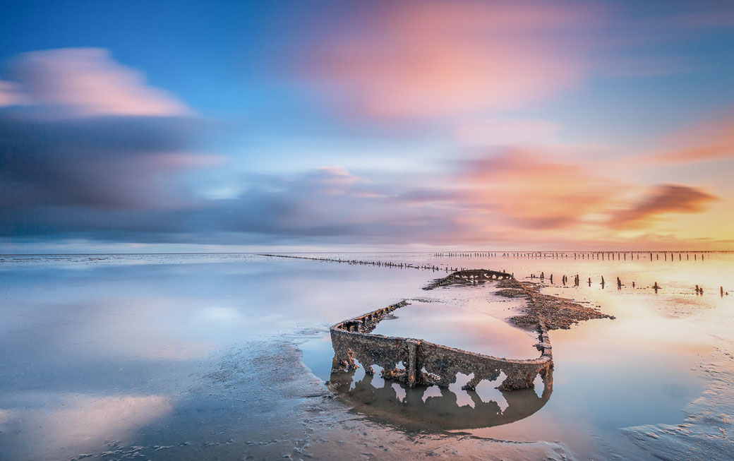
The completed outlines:
{"type": "Polygon", "coordinates": [[[0,106],[44,106],[47,115],[65,117],[192,114],[174,96],[146,86],[141,73],[118,64],[102,48],[21,54],[10,61],[7,73],[12,87],[0,85],[0,106]]]}

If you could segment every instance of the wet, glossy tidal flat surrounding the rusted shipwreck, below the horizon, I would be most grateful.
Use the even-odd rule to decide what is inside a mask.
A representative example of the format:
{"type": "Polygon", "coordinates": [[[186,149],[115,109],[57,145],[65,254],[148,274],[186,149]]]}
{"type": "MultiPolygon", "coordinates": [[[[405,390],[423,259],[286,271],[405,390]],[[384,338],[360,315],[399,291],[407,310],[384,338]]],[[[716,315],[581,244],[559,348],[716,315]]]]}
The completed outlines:
{"type": "Polygon", "coordinates": [[[730,459],[734,254],[556,254],[0,256],[0,459],[730,459]],[[462,267],[615,318],[551,331],[550,387],[332,374],[329,327],[406,299],[374,333],[537,356],[494,283],[422,289],[462,267]]]}

